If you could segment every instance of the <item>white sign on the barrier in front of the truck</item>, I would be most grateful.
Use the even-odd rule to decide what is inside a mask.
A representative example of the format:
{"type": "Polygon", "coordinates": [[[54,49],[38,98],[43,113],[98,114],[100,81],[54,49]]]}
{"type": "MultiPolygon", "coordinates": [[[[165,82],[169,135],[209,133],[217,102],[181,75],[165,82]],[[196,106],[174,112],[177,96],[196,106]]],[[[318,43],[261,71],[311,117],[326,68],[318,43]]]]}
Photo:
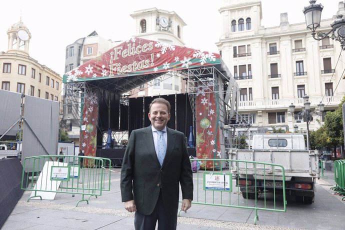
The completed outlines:
{"type": "Polygon", "coordinates": [[[231,173],[204,172],[203,189],[215,191],[229,191],[232,188],[231,173]]]}

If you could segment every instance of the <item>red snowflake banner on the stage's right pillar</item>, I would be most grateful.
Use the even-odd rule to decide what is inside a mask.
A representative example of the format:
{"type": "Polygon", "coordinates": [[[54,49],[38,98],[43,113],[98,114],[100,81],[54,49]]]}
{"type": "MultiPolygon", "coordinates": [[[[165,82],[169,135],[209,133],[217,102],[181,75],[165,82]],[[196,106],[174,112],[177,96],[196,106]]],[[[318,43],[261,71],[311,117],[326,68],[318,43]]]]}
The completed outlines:
{"type": "MultiPolygon", "coordinates": [[[[200,159],[221,158],[218,130],[218,110],[212,81],[196,83],[196,157],[200,159]]],[[[218,169],[215,161],[202,161],[201,168],[218,169]]]]}

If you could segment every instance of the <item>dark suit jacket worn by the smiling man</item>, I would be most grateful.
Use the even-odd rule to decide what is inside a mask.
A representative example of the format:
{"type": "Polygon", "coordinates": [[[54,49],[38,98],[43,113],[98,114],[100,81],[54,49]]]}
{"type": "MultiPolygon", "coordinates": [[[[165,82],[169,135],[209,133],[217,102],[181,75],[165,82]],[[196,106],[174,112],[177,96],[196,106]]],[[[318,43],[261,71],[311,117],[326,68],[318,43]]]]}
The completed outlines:
{"type": "Polygon", "coordinates": [[[134,199],[136,210],[152,213],[159,191],[165,210],[176,214],[179,183],[182,198],[193,198],[193,180],[187,145],[182,132],[166,127],[167,146],[162,166],[154,149],[151,126],[133,130],[121,168],[122,202],[134,199]]]}

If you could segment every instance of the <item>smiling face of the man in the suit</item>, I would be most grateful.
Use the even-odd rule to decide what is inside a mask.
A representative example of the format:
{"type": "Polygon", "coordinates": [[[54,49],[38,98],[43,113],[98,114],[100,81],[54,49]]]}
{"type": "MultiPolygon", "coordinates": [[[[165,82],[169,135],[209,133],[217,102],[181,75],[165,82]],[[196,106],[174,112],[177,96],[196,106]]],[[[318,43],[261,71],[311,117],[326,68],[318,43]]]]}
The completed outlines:
{"type": "Polygon", "coordinates": [[[170,119],[170,113],[167,112],[167,106],[165,104],[154,103],[151,105],[148,118],[155,129],[161,130],[165,127],[167,121],[170,119]]]}

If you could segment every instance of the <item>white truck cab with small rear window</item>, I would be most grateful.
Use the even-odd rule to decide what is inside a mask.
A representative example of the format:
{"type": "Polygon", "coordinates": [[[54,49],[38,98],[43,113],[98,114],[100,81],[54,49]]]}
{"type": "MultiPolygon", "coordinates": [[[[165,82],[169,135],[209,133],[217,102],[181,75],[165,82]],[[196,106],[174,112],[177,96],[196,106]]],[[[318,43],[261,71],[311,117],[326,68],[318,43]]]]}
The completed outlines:
{"type": "Polygon", "coordinates": [[[252,139],[253,149],[305,149],[303,134],[270,133],[254,134],[252,139]]]}

